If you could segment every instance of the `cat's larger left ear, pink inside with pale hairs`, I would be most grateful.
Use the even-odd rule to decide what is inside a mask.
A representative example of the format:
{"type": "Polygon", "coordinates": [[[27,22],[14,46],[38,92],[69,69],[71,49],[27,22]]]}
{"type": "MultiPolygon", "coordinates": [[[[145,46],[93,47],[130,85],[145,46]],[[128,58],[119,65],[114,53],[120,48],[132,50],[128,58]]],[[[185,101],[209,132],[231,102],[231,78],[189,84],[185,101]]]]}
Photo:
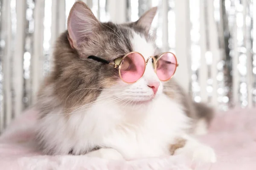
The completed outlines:
{"type": "Polygon", "coordinates": [[[67,20],[68,40],[72,48],[79,48],[82,41],[90,39],[100,23],[90,8],[77,1],[70,10],[67,20]]]}

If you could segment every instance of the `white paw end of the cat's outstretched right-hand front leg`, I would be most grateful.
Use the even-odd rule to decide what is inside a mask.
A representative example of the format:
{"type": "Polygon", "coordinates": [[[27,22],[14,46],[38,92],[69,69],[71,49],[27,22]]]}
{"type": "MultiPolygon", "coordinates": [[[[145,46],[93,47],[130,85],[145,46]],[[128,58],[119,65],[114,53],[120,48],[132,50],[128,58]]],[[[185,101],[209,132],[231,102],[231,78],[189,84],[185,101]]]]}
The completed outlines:
{"type": "Polygon", "coordinates": [[[216,155],[214,150],[204,144],[187,144],[175,151],[175,155],[179,154],[187,156],[189,159],[196,162],[216,162],[216,155]]]}

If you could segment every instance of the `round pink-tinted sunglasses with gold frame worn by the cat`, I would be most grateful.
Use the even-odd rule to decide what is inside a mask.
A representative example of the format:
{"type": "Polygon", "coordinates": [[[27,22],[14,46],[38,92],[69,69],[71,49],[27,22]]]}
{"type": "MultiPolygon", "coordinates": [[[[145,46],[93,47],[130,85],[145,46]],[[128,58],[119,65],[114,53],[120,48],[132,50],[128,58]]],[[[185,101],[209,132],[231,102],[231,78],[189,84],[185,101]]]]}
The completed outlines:
{"type": "Polygon", "coordinates": [[[154,56],[148,57],[147,61],[145,61],[143,55],[132,51],[122,58],[119,57],[115,59],[115,64],[96,56],[89,56],[88,58],[118,68],[120,78],[126,83],[135,83],[139,81],[145,72],[148,60],[151,58],[153,59],[152,62],[154,62],[154,71],[161,81],[168,81],[171,79],[175,74],[177,66],[179,66],[175,54],[171,52],[163,53],[157,57],[157,59],[155,59],[154,56]]]}

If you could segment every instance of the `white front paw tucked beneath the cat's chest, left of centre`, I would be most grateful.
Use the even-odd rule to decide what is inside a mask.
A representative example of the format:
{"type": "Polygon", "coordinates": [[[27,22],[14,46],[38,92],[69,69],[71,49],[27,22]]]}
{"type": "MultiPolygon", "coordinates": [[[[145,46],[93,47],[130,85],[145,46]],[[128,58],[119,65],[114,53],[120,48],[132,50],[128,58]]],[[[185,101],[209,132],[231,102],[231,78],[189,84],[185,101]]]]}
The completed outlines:
{"type": "Polygon", "coordinates": [[[123,156],[112,148],[101,148],[87,153],[86,156],[99,157],[103,159],[124,160],[123,156]]]}

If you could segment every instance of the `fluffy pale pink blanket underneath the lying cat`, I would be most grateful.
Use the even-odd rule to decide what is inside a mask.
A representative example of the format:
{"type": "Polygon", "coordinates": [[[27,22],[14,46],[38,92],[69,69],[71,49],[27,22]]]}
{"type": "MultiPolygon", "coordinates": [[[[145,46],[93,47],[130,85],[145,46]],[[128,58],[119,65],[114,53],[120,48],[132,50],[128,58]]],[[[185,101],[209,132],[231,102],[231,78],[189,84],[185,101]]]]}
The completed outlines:
{"type": "Polygon", "coordinates": [[[256,111],[236,109],[218,113],[209,134],[199,139],[217,153],[215,164],[191,164],[180,156],[113,161],[86,156],[44,156],[33,144],[36,111],[17,118],[0,136],[3,170],[256,170],[256,111]]]}

